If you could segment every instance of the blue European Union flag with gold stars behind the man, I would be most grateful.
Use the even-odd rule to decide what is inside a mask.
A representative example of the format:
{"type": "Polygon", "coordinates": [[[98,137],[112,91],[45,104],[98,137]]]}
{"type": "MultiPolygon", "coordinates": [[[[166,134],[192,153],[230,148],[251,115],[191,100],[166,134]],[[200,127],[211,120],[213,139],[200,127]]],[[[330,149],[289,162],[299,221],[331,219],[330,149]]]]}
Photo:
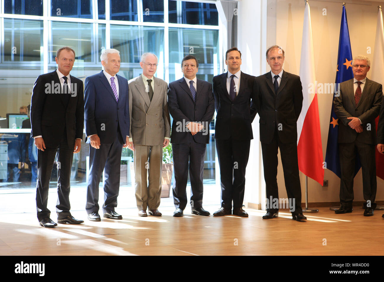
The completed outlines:
{"type": "MultiPolygon", "coordinates": [[[[339,53],[337,58],[336,70],[336,86],[335,95],[338,95],[338,83],[347,81],[353,78],[352,71],[352,51],[351,41],[349,40],[347,12],[343,6],[343,13],[341,14],[340,38],[339,38],[339,53]]],[[[333,97],[334,99],[334,97],[333,97]]],[[[339,159],[339,146],[338,146],[338,133],[339,133],[339,118],[334,112],[333,101],[331,110],[331,119],[329,122],[327,151],[325,153],[326,168],[333,171],[337,176],[341,176],[340,159],[339,159]]],[[[358,156],[356,156],[355,175],[360,170],[361,164],[358,156]]]]}

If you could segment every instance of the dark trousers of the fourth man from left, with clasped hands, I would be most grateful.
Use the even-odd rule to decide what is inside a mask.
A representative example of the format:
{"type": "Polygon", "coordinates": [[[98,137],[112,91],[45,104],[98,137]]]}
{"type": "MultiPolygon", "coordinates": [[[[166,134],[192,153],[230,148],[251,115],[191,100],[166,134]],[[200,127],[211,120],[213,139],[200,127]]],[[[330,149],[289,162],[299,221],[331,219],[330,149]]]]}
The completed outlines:
{"type": "Polygon", "coordinates": [[[191,183],[190,204],[192,209],[203,205],[203,173],[207,144],[205,143],[172,143],[175,181],[173,183],[173,201],[175,208],[182,210],[187,206],[188,169],[191,183]]]}

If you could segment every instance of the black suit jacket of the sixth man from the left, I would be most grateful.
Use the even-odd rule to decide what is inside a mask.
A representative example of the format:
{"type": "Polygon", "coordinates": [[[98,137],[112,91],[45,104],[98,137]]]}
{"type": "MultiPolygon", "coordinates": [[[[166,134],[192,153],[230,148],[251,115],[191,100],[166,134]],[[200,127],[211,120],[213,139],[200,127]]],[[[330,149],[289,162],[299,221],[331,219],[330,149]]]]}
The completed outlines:
{"type": "Polygon", "coordinates": [[[271,143],[276,124],[283,143],[297,142],[297,119],[303,107],[300,76],[283,71],[275,94],[271,72],[256,78],[256,108],[260,115],[260,142],[271,143]]]}

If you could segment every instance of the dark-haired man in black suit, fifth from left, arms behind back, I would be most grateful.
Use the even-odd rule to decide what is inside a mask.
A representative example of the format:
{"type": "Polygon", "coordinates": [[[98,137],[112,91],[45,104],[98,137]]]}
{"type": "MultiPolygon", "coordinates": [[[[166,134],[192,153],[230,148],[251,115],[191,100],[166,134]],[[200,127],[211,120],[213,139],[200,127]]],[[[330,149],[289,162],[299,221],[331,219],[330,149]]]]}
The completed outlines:
{"type": "Polygon", "coordinates": [[[220,166],[221,208],[214,216],[248,216],[243,209],[245,168],[248,163],[255,77],[240,71],[241,53],[234,47],[225,53],[228,72],[215,76],[215,143],[220,166]],[[252,102],[251,102],[252,99],[252,102]],[[233,201],[233,211],[232,211],[233,201]]]}

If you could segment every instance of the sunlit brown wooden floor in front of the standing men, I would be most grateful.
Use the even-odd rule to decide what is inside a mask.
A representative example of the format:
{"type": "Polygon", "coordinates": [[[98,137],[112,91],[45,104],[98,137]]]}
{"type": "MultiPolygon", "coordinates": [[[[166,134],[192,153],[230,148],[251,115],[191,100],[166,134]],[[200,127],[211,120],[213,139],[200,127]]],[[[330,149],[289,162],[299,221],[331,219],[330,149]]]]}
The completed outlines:
{"type": "MultiPolygon", "coordinates": [[[[205,206],[211,213],[218,206],[205,206]]],[[[122,220],[85,220],[84,224],[38,226],[35,213],[0,215],[0,255],[382,255],[382,211],[364,217],[363,209],[335,214],[329,208],[293,221],[290,213],[263,220],[264,211],[245,209],[238,216],[137,216],[136,209],[116,209],[122,220]],[[326,245],[325,245],[326,242],[326,245]]],[[[288,211],[288,210],[286,210],[288,211]]],[[[85,219],[84,211],[72,213],[85,219]]],[[[52,219],[56,221],[53,214],[52,219]]]]}

